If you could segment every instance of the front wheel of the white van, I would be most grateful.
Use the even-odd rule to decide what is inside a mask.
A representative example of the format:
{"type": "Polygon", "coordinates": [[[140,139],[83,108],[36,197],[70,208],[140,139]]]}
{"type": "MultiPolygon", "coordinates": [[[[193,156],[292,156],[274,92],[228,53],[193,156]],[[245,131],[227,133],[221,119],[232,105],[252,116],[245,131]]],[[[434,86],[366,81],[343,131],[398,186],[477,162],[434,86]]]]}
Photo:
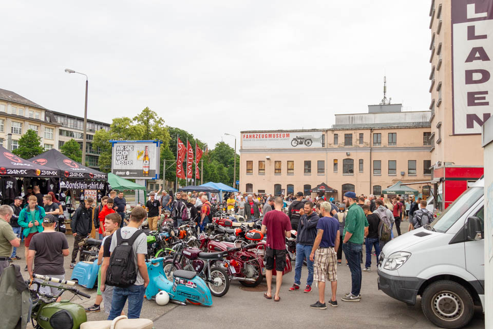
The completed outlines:
{"type": "Polygon", "coordinates": [[[421,309],[428,320],[442,328],[462,328],[474,315],[469,291],[449,280],[437,281],[426,287],[421,309]]]}

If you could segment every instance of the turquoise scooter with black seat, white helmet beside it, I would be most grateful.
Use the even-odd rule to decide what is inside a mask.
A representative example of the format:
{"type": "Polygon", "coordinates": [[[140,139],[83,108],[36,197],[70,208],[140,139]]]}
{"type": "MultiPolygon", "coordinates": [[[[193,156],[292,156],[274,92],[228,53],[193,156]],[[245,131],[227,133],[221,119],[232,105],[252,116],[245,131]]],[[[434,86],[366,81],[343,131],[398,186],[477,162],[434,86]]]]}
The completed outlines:
{"type": "Polygon", "coordinates": [[[212,305],[211,291],[195,271],[175,270],[173,281],[169,281],[164,273],[162,257],[150,260],[146,265],[149,273],[146,299],[155,299],[159,291],[165,291],[169,301],[175,304],[186,305],[188,301],[192,304],[212,305]]]}

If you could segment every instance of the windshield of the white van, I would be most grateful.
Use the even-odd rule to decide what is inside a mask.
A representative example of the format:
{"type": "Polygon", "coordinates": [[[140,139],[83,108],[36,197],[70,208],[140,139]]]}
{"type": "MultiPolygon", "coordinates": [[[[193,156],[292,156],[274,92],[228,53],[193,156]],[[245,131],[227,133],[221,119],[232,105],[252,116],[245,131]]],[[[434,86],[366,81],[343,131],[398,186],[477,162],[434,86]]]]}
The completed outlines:
{"type": "Polygon", "coordinates": [[[473,187],[461,194],[444,212],[434,220],[430,226],[437,232],[446,232],[457,220],[474,205],[481,196],[484,189],[473,187]]]}

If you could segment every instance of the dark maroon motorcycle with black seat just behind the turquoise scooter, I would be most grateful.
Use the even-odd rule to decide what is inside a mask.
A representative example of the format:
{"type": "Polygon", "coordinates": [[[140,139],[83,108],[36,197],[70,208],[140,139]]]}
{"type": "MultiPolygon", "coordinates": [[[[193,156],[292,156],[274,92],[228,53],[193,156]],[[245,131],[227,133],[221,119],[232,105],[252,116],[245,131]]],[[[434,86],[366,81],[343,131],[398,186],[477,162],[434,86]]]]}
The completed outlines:
{"type": "Polygon", "coordinates": [[[195,271],[206,282],[213,296],[226,295],[230,288],[230,277],[223,269],[229,266],[229,263],[224,260],[227,251],[202,252],[198,248],[188,247],[188,242],[184,240],[175,244],[173,249],[175,250],[173,259],[163,262],[164,273],[169,281],[173,280],[173,272],[176,270],[195,271]],[[217,265],[216,262],[222,266],[213,266],[217,265]]]}

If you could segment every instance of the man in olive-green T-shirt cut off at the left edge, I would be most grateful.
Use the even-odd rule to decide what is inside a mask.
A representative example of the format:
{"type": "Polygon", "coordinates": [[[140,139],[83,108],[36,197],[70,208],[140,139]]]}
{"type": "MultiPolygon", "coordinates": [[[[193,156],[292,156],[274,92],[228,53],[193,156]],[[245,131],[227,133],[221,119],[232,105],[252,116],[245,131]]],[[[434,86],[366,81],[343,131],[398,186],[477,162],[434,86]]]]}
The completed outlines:
{"type": "Polygon", "coordinates": [[[12,230],[9,222],[14,211],[10,206],[0,206],[0,276],[4,268],[9,266],[9,257],[14,247],[21,245],[21,239],[12,230]]]}

